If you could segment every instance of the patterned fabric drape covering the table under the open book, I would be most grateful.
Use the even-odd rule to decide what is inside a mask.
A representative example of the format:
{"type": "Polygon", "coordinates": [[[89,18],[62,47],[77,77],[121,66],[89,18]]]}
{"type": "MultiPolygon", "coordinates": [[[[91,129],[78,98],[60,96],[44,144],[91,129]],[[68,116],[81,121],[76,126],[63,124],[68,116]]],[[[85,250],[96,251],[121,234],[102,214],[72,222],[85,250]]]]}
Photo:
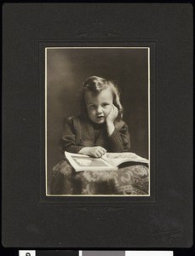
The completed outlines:
{"type": "Polygon", "coordinates": [[[148,195],[148,167],[123,166],[117,171],[75,172],[66,160],[53,168],[52,195],[148,195]]]}

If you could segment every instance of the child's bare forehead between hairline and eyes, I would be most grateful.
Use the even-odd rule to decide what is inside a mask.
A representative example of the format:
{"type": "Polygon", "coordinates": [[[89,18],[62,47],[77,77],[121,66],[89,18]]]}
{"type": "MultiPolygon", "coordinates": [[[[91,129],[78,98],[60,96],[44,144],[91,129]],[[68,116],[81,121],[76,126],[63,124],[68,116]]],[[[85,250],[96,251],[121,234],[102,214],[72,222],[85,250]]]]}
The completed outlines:
{"type": "Polygon", "coordinates": [[[95,101],[112,101],[112,91],[110,88],[107,88],[106,90],[101,90],[100,93],[96,94],[93,91],[86,90],[84,93],[85,102],[95,102],[95,101]]]}

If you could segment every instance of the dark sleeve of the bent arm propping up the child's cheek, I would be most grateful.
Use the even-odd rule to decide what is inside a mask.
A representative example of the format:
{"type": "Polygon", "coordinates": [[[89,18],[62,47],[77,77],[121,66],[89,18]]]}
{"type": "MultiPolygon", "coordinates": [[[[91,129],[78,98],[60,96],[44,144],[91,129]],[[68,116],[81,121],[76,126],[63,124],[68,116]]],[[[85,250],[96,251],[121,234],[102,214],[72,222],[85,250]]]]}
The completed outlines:
{"type": "Polygon", "coordinates": [[[125,123],[121,128],[115,126],[112,135],[108,137],[112,152],[127,152],[130,148],[129,128],[125,123]]]}

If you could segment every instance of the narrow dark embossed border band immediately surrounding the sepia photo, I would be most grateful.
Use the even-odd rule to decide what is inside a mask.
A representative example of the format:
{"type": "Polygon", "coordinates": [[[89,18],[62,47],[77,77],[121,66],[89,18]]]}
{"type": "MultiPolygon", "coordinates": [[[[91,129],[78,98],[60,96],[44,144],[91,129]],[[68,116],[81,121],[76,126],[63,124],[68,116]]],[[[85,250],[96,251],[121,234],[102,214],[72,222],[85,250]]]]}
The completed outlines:
{"type": "MultiPolygon", "coordinates": [[[[100,41],[100,40],[98,40],[100,41]]],[[[105,41],[105,40],[104,40],[105,41]]],[[[40,124],[45,124],[46,120],[46,113],[45,113],[45,104],[44,104],[44,109],[43,109],[43,95],[44,99],[47,96],[47,93],[45,91],[45,88],[47,86],[47,81],[45,80],[46,76],[46,61],[45,61],[45,55],[46,55],[46,49],[72,49],[72,48],[77,48],[77,49],[123,49],[123,48],[131,48],[131,49],[148,49],[149,51],[149,57],[148,61],[150,64],[150,69],[148,68],[148,90],[150,92],[152,91],[152,96],[151,93],[148,91],[148,107],[150,106],[150,111],[148,108],[148,147],[150,147],[150,150],[148,151],[148,154],[151,155],[151,151],[155,152],[155,154],[152,155],[152,167],[150,166],[150,173],[152,170],[152,175],[150,174],[150,194],[149,195],[47,195],[45,193],[44,189],[47,189],[47,183],[46,183],[46,176],[47,176],[47,171],[44,172],[44,178],[45,181],[43,182],[43,173],[39,173],[39,198],[38,198],[38,204],[40,205],[64,205],[68,204],[74,206],[75,204],[82,204],[87,202],[90,206],[98,206],[98,205],[109,205],[109,206],[114,206],[119,204],[125,203],[125,204],[157,204],[157,175],[158,175],[158,170],[157,170],[157,160],[156,160],[156,152],[157,152],[157,146],[156,146],[156,136],[157,136],[157,128],[151,130],[151,116],[152,116],[152,122],[154,125],[152,127],[157,127],[157,102],[156,102],[156,93],[157,93],[157,71],[156,71],[156,65],[157,65],[157,44],[158,40],[129,40],[129,39],[118,39],[114,41],[110,41],[109,43],[105,42],[97,42],[97,40],[92,39],[92,40],[87,40],[87,42],[81,41],[75,41],[74,40],[66,40],[66,41],[38,41],[37,49],[38,49],[38,65],[37,65],[37,73],[38,73],[38,81],[39,81],[39,102],[40,102],[40,114],[39,114],[39,122],[40,124]],[[136,46],[135,46],[136,45],[136,46]],[[44,74],[43,74],[44,70],[44,74]],[[43,79],[44,76],[44,79],[43,79]],[[43,84],[44,84],[44,91],[43,91],[43,84]],[[152,89],[152,90],[151,90],[152,89]],[[151,101],[152,100],[152,101],[151,101]],[[152,102],[152,104],[151,104],[152,102]],[[45,120],[43,122],[43,112],[45,114],[45,120]],[[152,142],[151,142],[151,134],[152,134],[152,142]],[[155,148],[155,149],[153,149],[155,148]],[[155,192],[156,190],[156,192],[155,192]],[[45,193],[45,195],[44,195],[45,193]],[[81,200],[82,199],[82,200],[81,200]],[[94,200],[93,200],[94,199],[94,200]],[[103,199],[103,202],[102,200],[103,199]],[[110,200],[111,199],[111,200],[110,200]]],[[[46,101],[44,101],[46,102],[46,101]]],[[[45,125],[46,126],[46,125],[45,125]]],[[[44,137],[44,143],[46,143],[46,135],[45,131],[41,131],[40,136],[39,136],[39,141],[40,145],[43,144],[43,138],[44,137]]],[[[46,146],[45,146],[46,148],[46,146]]],[[[43,150],[45,148],[42,147],[39,148],[40,150],[40,155],[43,155],[43,150]]],[[[45,153],[46,155],[46,153],[45,153]]],[[[42,158],[41,158],[42,159],[42,158]]],[[[44,169],[46,170],[46,159],[44,157],[44,164],[42,160],[40,161],[40,165],[38,169],[44,169]]]]}

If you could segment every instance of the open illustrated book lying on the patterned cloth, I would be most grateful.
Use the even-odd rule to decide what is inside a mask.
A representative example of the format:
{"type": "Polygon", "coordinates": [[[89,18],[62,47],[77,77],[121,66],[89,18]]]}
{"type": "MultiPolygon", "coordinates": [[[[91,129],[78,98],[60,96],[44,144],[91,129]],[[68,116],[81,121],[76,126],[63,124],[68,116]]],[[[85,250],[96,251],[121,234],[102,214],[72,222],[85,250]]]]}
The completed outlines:
{"type": "Polygon", "coordinates": [[[148,164],[149,161],[135,153],[106,153],[101,158],[90,157],[85,154],[73,154],[65,151],[66,159],[76,172],[81,171],[115,171],[125,162],[148,164]]]}

